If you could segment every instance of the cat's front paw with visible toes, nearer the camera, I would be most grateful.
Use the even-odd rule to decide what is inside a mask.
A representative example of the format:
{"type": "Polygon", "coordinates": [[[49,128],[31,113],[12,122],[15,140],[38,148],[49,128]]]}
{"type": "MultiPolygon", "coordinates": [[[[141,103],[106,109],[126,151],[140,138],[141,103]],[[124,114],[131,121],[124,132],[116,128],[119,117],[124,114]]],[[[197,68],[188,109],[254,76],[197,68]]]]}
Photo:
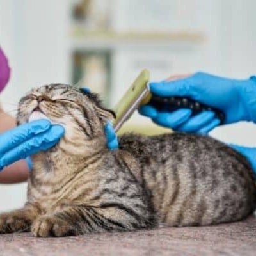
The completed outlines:
{"type": "Polygon", "coordinates": [[[71,225],[56,216],[40,216],[31,226],[31,233],[36,237],[61,237],[75,234],[71,225]]]}

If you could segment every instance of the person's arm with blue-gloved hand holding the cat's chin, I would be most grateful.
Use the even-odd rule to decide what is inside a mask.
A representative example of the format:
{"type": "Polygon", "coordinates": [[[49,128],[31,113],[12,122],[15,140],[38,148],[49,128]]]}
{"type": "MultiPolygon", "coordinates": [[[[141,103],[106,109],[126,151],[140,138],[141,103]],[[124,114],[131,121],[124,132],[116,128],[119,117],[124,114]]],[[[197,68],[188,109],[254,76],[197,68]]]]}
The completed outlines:
{"type": "Polygon", "coordinates": [[[22,182],[28,178],[29,168],[26,160],[20,159],[52,147],[60,140],[64,129],[47,120],[15,127],[15,119],[6,113],[1,113],[0,119],[0,182],[22,182]]]}

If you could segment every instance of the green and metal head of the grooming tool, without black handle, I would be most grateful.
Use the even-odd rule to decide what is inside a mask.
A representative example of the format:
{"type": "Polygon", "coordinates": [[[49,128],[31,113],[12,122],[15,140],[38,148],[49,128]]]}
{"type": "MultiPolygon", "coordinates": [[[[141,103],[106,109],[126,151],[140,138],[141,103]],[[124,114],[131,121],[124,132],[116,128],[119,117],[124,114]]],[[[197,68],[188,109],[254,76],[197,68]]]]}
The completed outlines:
{"type": "Polygon", "coordinates": [[[122,124],[127,121],[132,113],[141,105],[147,104],[151,98],[151,93],[148,90],[149,72],[143,70],[131,87],[124,94],[122,99],[116,104],[113,110],[116,113],[116,118],[113,121],[115,132],[117,132],[122,124]]]}

